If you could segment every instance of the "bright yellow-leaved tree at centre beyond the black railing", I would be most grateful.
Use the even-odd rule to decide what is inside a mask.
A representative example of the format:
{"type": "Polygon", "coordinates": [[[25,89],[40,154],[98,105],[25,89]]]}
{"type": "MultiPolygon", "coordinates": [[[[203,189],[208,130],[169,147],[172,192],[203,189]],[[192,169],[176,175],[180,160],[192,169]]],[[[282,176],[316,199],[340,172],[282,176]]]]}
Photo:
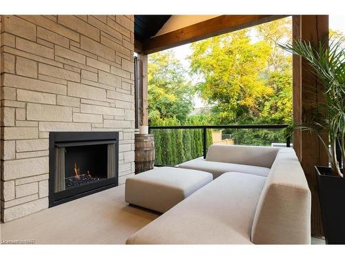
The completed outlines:
{"type": "Polygon", "coordinates": [[[273,93],[260,77],[270,46],[265,41],[252,43],[248,32],[239,30],[192,44],[191,73],[201,77],[197,89],[213,106],[215,124],[253,120],[259,113],[257,99],[273,93]]]}

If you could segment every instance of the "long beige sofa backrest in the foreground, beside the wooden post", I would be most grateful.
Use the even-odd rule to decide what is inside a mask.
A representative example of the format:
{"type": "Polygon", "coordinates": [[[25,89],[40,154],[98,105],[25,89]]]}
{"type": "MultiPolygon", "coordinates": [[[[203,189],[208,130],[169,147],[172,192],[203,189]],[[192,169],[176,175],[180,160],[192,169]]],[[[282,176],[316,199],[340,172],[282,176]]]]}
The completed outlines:
{"type": "Polygon", "coordinates": [[[255,244],[309,244],[311,191],[295,151],[279,151],[259,198],[252,227],[255,244]]]}

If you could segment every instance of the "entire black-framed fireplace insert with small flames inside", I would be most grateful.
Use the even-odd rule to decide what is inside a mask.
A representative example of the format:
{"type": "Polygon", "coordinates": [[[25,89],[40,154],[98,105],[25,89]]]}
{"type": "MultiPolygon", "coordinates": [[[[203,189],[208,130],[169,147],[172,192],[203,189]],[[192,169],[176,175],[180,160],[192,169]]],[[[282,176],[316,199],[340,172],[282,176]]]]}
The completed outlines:
{"type": "Polygon", "coordinates": [[[49,134],[49,206],[118,184],[118,132],[49,134]]]}

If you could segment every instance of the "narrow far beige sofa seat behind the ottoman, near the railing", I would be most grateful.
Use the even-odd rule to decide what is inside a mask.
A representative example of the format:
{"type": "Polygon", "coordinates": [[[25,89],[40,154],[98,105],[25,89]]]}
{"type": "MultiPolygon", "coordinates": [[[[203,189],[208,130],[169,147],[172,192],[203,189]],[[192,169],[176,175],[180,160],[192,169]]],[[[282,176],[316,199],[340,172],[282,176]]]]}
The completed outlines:
{"type": "Polygon", "coordinates": [[[239,172],[259,176],[267,176],[270,171],[270,169],[267,167],[206,161],[203,157],[198,157],[195,160],[190,160],[179,164],[179,168],[195,169],[212,173],[213,178],[217,178],[219,175],[226,172],[239,172]]]}

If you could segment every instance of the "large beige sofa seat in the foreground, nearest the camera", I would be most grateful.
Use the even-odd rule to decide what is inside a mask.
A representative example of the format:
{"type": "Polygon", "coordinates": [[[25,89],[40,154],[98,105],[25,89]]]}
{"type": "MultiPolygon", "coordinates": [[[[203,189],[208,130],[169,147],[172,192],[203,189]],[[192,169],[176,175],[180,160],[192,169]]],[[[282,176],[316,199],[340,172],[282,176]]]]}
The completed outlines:
{"type": "Polygon", "coordinates": [[[224,173],[132,235],[127,244],[252,244],[266,178],[224,173]]]}

